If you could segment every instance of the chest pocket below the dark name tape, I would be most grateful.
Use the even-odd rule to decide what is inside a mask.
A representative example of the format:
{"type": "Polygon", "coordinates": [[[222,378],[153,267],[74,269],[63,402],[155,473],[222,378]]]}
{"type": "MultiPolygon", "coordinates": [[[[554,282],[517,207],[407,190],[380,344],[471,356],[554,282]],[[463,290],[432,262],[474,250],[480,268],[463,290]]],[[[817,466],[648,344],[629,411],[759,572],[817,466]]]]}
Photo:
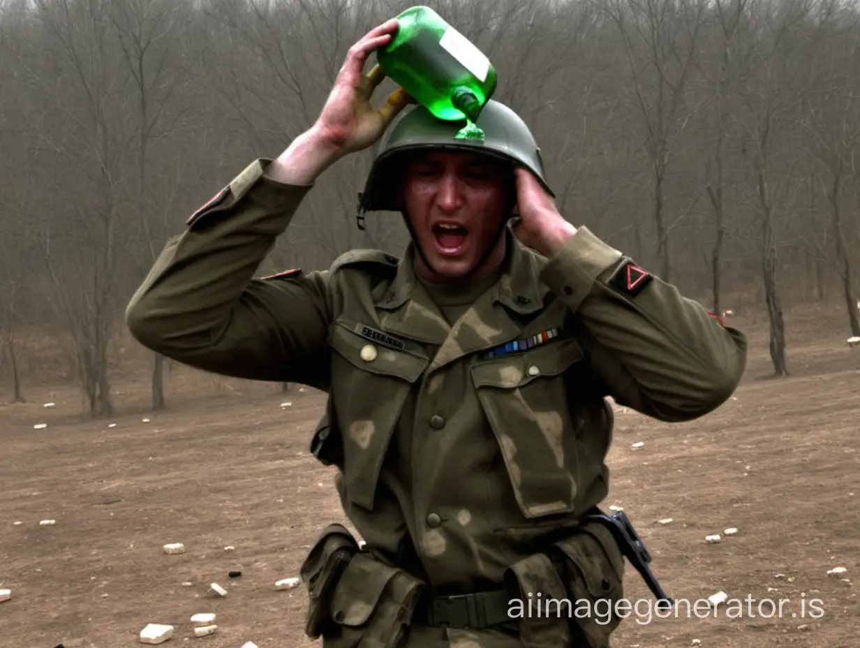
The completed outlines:
{"type": "Polygon", "coordinates": [[[330,398],[342,438],[347,498],[372,510],[391,434],[429,359],[420,350],[391,349],[359,333],[342,317],[332,324],[330,398]]]}

